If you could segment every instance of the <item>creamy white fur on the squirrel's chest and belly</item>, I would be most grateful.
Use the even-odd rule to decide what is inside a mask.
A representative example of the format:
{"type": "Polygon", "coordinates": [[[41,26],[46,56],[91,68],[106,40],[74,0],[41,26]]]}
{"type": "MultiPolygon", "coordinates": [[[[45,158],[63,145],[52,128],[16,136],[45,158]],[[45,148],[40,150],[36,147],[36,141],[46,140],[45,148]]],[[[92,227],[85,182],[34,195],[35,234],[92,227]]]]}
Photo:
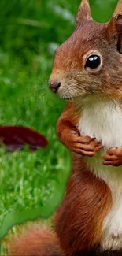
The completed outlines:
{"type": "MultiPolygon", "coordinates": [[[[88,101],[79,119],[79,131],[102,141],[104,149],[94,158],[86,158],[94,175],[109,185],[113,197],[113,208],[103,224],[102,247],[117,250],[122,248],[122,166],[102,164],[102,156],[110,147],[122,146],[122,110],[120,103],[88,101]]],[[[121,105],[122,106],[122,105],[121,105]]]]}

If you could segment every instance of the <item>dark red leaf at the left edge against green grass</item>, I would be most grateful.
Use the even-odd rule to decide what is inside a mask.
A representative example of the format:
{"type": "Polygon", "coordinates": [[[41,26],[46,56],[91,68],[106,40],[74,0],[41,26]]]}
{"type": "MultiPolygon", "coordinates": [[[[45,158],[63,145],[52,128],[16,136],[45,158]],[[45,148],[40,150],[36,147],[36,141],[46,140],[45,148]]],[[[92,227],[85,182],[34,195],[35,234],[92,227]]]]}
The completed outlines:
{"type": "Polygon", "coordinates": [[[45,148],[48,144],[46,138],[31,128],[22,126],[0,126],[0,141],[6,149],[14,151],[28,145],[30,150],[45,148]]]}

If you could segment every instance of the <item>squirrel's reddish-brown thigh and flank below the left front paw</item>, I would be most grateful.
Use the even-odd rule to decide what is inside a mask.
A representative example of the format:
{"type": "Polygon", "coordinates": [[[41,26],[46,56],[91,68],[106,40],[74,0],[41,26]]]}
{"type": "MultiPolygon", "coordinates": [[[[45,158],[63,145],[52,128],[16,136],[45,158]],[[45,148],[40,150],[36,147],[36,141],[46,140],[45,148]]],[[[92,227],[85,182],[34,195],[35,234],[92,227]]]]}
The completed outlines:
{"type": "Polygon", "coordinates": [[[69,256],[92,250],[98,244],[102,221],[112,204],[109,187],[89,173],[81,159],[74,156],[73,166],[55,221],[61,248],[69,256]]]}

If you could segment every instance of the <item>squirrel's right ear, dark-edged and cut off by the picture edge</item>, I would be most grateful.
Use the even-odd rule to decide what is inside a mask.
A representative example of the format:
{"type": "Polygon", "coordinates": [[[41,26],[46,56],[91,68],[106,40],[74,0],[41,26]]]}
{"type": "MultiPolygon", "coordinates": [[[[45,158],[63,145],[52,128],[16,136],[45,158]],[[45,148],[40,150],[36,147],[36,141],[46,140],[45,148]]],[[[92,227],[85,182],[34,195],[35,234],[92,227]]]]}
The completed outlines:
{"type": "Polygon", "coordinates": [[[107,24],[107,35],[117,42],[117,49],[122,54],[122,14],[116,14],[107,24]]]}

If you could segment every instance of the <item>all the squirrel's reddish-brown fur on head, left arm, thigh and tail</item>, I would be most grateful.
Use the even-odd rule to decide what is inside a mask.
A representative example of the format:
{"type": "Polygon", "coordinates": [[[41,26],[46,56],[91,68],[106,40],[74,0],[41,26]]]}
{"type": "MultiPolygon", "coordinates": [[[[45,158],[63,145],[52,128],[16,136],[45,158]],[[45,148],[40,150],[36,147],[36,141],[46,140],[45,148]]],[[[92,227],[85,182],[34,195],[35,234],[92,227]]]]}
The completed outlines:
{"type": "MultiPolygon", "coordinates": [[[[120,6],[117,6],[117,12],[120,12],[120,6]]],[[[57,49],[50,76],[51,83],[54,80],[65,83],[64,95],[68,94],[72,98],[72,95],[77,97],[86,92],[95,92],[97,95],[106,94],[111,98],[122,98],[122,69],[121,65],[118,65],[120,55],[116,54],[114,46],[120,33],[121,20],[121,17],[114,17],[109,24],[95,23],[91,19],[87,1],[83,0],[76,17],[76,30],[57,49]],[[88,74],[83,69],[83,56],[89,50],[94,50],[94,47],[103,56],[107,56],[103,61],[109,72],[104,65],[101,72],[97,70],[95,76],[93,72],[88,74]],[[113,61],[115,58],[116,61],[113,61]],[[82,76],[79,76],[81,72],[82,76]],[[91,87],[93,80],[94,91],[91,87]]],[[[67,98],[64,95],[61,96],[67,98]]],[[[112,197],[105,182],[94,176],[87,168],[83,157],[76,154],[93,156],[101,149],[100,143],[90,137],[83,138],[82,134],[79,134],[79,110],[79,105],[67,102],[64,112],[57,121],[59,139],[73,152],[72,175],[68,180],[65,198],[54,219],[57,236],[43,229],[39,232],[24,232],[9,244],[9,255],[54,256],[60,253],[65,256],[80,256],[86,255],[89,251],[94,255],[93,251],[101,238],[103,221],[112,207],[112,197]]]]}

